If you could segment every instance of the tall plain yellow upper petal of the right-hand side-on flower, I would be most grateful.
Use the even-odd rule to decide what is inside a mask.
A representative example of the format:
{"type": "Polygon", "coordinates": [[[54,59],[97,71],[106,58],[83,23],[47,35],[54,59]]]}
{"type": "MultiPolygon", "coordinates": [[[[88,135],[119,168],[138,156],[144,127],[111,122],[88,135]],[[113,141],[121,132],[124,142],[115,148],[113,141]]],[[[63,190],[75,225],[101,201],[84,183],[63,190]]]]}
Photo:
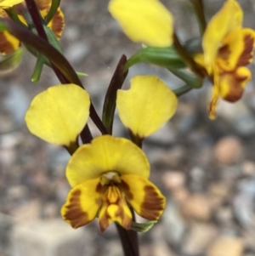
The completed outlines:
{"type": "Polygon", "coordinates": [[[224,37],[231,31],[241,28],[243,13],[235,0],[228,0],[222,9],[210,20],[202,39],[207,71],[212,73],[211,65],[222,46],[224,37]]]}

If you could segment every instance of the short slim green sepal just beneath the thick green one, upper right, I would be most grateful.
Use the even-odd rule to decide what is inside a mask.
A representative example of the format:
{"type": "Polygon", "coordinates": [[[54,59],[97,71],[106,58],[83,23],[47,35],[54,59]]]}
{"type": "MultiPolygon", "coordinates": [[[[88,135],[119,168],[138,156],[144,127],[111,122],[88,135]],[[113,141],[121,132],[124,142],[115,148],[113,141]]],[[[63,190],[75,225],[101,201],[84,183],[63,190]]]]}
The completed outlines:
{"type": "Polygon", "coordinates": [[[191,88],[201,88],[203,81],[200,77],[195,76],[190,71],[184,70],[184,69],[169,69],[175,75],[176,77],[183,80],[185,83],[187,83],[191,88]]]}

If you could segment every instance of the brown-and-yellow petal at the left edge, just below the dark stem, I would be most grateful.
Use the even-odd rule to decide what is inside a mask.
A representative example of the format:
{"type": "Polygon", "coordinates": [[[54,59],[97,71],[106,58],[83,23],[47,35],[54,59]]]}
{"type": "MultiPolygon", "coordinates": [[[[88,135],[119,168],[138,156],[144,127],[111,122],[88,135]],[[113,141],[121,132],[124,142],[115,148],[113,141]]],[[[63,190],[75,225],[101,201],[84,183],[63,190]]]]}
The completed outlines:
{"type": "Polygon", "coordinates": [[[0,52],[3,55],[11,54],[20,48],[20,41],[8,33],[8,31],[0,32],[0,52]]]}

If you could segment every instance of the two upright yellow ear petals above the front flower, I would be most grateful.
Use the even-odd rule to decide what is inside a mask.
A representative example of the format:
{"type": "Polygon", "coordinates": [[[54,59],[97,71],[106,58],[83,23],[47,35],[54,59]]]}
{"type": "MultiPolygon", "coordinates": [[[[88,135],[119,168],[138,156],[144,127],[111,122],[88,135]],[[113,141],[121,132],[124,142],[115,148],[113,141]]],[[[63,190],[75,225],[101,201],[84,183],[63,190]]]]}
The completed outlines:
{"type": "MultiPolygon", "coordinates": [[[[138,76],[131,88],[118,90],[116,107],[123,124],[144,138],[173,117],[177,97],[155,76],[138,76]]],[[[89,95],[74,84],[57,85],[38,94],[26,113],[32,134],[58,145],[71,145],[88,122],[89,95]]]]}

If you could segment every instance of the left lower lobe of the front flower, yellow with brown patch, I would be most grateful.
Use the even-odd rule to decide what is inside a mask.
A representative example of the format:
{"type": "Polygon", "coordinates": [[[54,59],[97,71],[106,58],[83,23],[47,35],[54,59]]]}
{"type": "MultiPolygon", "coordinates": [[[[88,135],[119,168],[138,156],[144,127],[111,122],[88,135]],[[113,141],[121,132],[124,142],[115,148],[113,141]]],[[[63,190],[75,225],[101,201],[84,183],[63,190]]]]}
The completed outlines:
{"type": "Polygon", "coordinates": [[[89,179],[68,193],[61,215],[73,228],[87,225],[96,217],[103,203],[99,184],[99,179],[89,179]]]}

